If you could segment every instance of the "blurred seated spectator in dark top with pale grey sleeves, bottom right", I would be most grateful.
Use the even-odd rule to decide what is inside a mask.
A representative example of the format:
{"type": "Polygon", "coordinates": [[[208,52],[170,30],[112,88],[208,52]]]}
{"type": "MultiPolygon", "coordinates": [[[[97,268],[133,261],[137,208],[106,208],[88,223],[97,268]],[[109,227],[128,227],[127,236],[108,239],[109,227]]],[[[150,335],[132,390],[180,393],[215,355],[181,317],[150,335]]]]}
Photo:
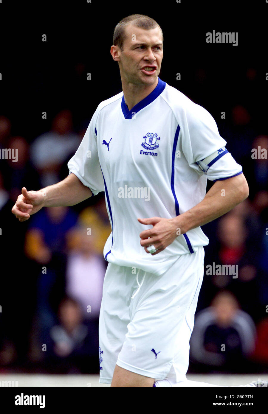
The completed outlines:
{"type": "Polygon", "coordinates": [[[254,351],[255,337],[251,317],[239,309],[231,292],[222,291],[209,308],[196,315],[191,357],[218,371],[243,371],[243,364],[254,351]]]}

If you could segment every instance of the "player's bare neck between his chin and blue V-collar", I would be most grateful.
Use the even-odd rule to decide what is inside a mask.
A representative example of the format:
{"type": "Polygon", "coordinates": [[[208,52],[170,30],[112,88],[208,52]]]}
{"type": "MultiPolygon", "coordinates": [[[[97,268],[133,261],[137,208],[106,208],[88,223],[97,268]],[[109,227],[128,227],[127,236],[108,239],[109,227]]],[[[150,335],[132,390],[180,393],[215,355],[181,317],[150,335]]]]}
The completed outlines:
{"type": "Polygon", "coordinates": [[[152,85],[134,84],[121,78],[124,100],[129,111],[142,99],[146,98],[158,84],[158,77],[152,85]]]}

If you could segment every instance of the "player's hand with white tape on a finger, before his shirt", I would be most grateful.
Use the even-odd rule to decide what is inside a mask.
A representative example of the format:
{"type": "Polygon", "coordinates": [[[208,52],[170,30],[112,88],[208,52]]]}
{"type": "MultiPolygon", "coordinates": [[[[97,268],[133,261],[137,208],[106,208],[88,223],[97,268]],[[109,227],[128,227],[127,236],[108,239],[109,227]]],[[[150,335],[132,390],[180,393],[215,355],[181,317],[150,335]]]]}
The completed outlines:
{"type": "Polygon", "coordinates": [[[178,237],[178,226],[174,219],[151,217],[150,219],[138,219],[138,221],[141,224],[152,224],[153,226],[152,229],[144,230],[140,233],[140,245],[144,247],[146,253],[150,253],[147,247],[152,244],[157,249],[155,253],[151,253],[152,256],[162,252],[178,237]]]}

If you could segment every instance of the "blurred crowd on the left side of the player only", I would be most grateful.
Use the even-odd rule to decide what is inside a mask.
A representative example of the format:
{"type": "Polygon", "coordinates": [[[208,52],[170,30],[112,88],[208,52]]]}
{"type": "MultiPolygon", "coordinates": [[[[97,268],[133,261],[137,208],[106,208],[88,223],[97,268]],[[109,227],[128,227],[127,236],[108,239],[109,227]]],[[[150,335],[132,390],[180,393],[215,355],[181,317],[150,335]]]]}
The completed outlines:
{"type": "Polygon", "coordinates": [[[73,131],[72,113],[62,110],[29,144],[0,116],[0,149],[18,154],[17,162],[0,161],[0,371],[99,371],[103,248],[111,233],[104,193],[43,208],[24,223],[11,214],[22,187],[39,190],[68,176],[84,133],[73,131]]]}

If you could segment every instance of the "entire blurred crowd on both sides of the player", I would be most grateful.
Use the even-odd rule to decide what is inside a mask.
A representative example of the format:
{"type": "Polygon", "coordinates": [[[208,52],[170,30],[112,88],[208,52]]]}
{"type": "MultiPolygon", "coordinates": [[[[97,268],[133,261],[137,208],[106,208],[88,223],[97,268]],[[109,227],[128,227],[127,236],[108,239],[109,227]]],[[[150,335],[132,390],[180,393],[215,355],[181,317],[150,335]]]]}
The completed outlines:
{"type": "MultiPolygon", "coordinates": [[[[249,198],[203,226],[204,279],[191,337],[189,372],[259,372],[268,369],[268,151],[241,105],[220,125],[227,149],[243,166],[249,198]],[[237,274],[210,274],[234,265],[237,274]]],[[[85,129],[60,111],[51,129],[28,142],[12,135],[0,116],[0,150],[17,149],[17,162],[0,160],[0,372],[98,373],[98,318],[111,232],[104,193],[73,207],[41,209],[19,223],[12,206],[27,190],[68,176],[67,162],[85,129]]],[[[212,185],[213,183],[208,183],[212,185]]]]}

